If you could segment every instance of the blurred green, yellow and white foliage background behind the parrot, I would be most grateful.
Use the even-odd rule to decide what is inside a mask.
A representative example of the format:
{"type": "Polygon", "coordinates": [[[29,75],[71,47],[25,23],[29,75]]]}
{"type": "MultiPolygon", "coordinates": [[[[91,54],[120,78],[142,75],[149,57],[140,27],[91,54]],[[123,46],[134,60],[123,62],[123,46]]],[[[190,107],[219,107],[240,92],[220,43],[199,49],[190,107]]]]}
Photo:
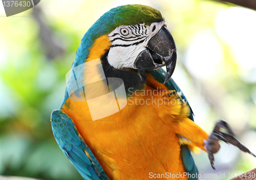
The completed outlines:
{"type": "MultiPolygon", "coordinates": [[[[0,17],[0,174],[82,179],[59,149],[50,126],[64,96],[84,33],[106,11],[127,1],[45,0],[0,17]]],[[[203,0],[144,0],[165,17],[177,49],[173,79],[195,121],[207,133],[227,120],[256,153],[256,12],[203,0]]],[[[2,4],[0,15],[4,14],[2,4]]],[[[100,27],[99,27],[100,28],[100,27]]],[[[201,174],[245,172],[256,158],[221,143],[211,169],[205,152],[193,155],[201,174]]],[[[208,178],[208,179],[220,179],[208,178]]]]}

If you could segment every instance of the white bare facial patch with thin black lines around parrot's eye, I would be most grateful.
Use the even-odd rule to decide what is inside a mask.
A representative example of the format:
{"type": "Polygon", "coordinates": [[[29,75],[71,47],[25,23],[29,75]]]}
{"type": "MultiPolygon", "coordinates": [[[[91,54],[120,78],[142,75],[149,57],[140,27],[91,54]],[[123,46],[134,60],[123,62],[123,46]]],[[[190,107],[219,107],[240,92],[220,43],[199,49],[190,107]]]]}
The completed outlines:
{"type": "Polygon", "coordinates": [[[139,54],[146,49],[148,41],[166,26],[165,21],[153,22],[150,26],[142,24],[122,25],[108,34],[112,41],[108,61],[115,68],[134,68],[139,54]]]}

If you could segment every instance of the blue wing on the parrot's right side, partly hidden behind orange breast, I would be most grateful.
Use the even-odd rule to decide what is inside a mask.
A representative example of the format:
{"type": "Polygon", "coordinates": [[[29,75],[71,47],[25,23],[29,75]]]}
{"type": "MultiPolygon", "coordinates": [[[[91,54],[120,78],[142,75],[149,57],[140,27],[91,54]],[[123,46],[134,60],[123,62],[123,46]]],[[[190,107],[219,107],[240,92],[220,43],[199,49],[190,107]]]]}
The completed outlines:
{"type": "MultiPolygon", "coordinates": [[[[158,70],[146,71],[146,73],[149,73],[149,74],[153,75],[155,80],[157,80],[159,83],[162,83],[162,84],[164,83],[166,72],[162,68],[160,68],[158,70]]],[[[181,93],[181,95],[180,95],[181,99],[185,100],[187,102],[186,97],[184,96],[184,94],[180,90],[179,86],[174,82],[174,80],[172,78],[170,78],[169,81],[164,85],[169,90],[175,90],[177,92],[180,92],[181,93]]],[[[187,102],[187,104],[188,104],[188,102],[187,102]]],[[[189,104],[188,104],[188,106],[189,106],[189,104]]],[[[193,111],[192,111],[190,106],[189,106],[189,108],[190,108],[189,119],[194,121],[193,111]]],[[[188,149],[187,145],[181,145],[181,158],[182,158],[183,165],[184,165],[185,170],[186,170],[187,173],[189,173],[189,174],[198,173],[197,166],[196,166],[196,164],[193,160],[193,157],[192,157],[192,155],[190,153],[190,150],[188,149]]],[[[189,180],[196,180],[196,179],[198,179],[198,178],[192,178],[192,177],[189,178],[189,180]]]]}

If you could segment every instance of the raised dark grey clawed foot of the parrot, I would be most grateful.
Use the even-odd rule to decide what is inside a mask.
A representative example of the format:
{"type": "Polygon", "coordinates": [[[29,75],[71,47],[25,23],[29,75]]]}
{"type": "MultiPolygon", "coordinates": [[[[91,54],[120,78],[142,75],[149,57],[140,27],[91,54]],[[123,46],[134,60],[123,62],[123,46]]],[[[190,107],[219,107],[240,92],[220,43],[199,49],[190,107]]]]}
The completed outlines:
{"type": "Polygon", "coordinates": [[[227,144],[233,144],[234,146],[237,146],[242,151],[248,152],[252,156],[256,157],[247,147],[241,144],[239,140],[234,137],[234,134],[231,131],[231,128],[229,127],[227,121],[221,119],[219,122],[216,123],[214,127],[214,131],[209,136],[208,141],[205,141],[205,145],[204,145],[206,151],[208,152],[208,157],[209,157],[212,169],[215,169],[214,153],[218,152],[220,149],[220,144],[218,142],[219,140],[222,140],[227,144]],[[227,133],[220,131],[220,128],[225,128],[227,133]]]}

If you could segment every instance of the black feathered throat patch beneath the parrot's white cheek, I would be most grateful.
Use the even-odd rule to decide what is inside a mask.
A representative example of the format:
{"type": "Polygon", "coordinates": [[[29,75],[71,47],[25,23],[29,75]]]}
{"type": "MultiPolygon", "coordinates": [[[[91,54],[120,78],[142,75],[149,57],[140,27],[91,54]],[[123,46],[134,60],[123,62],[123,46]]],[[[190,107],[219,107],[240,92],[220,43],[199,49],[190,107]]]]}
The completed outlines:
{"type": "Polygon", "coordinates": [[[108,54],[109,50],[100,58],[106,78],[121,78],[124,83],[126,95],[130,95],[131,92],[136,90],[144,89],[146,84],[146,73],[144,70],[114,68],[109,64],[108,54]]]}

